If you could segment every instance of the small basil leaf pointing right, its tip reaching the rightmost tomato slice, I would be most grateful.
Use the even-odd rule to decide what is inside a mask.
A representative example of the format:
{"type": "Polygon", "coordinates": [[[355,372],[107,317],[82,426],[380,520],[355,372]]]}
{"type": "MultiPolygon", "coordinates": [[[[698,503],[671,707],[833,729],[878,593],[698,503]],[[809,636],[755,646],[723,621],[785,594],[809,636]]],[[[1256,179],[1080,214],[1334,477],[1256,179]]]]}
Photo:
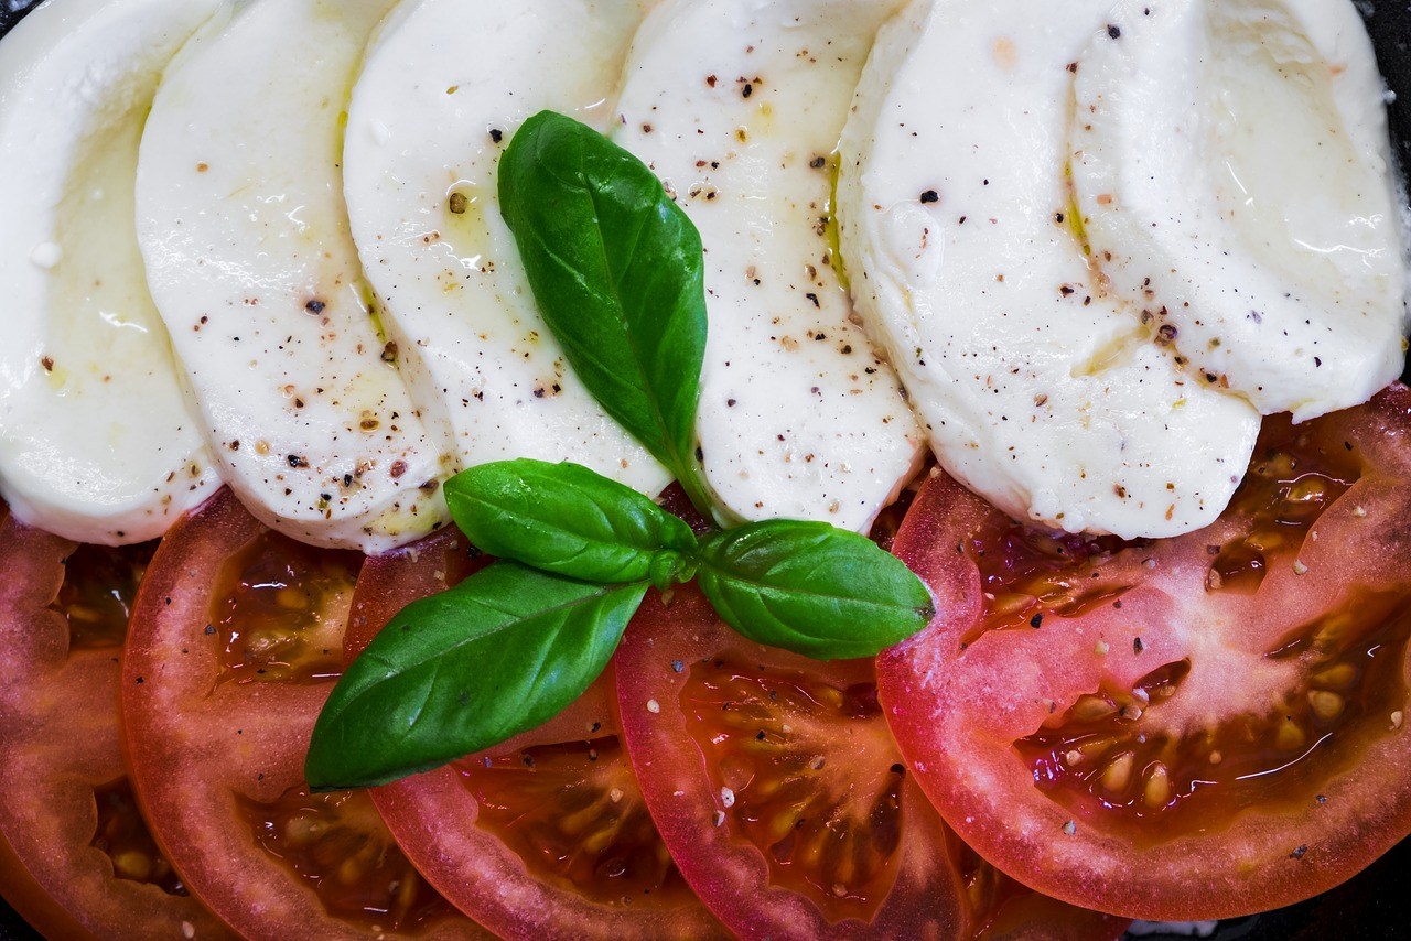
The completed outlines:
{"type": "Polygon", "coordinates": [[[725,624],[818,660],[875,656],[935,614],[900,559],[828,523],[749,523],[706,539],[700,557],[697,583],[725,624]]]}

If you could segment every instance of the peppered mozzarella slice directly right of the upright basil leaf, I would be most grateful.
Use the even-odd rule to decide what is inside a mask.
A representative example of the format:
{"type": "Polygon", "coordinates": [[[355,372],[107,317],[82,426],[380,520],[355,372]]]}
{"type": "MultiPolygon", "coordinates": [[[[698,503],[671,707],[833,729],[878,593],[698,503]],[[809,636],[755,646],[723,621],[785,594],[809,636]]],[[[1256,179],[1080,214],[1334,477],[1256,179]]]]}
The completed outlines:
{"type": "Polygon", "coordinates": [[[673,0],[628,56],[615,137],[701,233],[697,430],[708,485],[745,519],[865,529],[923,444],[896,374],[849,320],[825,231],[830,155],[895,8],[673,0]]]}

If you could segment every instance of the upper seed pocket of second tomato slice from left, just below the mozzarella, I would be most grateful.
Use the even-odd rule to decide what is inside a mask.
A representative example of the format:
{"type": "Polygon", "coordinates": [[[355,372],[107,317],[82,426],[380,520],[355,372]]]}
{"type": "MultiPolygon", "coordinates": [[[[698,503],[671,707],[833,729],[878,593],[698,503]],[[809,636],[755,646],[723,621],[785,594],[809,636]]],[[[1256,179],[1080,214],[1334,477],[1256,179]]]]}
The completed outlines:
{"type": "Polygon", "coordinates": [[[212,629],[222,683],[317,683],[343,672],[343,625],[363,556],[265,530],[220,569],[212,629]]]}

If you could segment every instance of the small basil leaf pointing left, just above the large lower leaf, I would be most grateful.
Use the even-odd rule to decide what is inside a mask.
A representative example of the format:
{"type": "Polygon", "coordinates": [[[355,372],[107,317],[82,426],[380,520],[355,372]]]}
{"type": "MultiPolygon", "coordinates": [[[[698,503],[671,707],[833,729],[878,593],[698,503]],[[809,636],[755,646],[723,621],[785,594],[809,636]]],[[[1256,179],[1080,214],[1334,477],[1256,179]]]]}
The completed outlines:
{"type": "Polygon", "coordinates": [[[665,590],[696,570],[690,526],[580,464],[481,464],[446,481],[446,502],[478,549],[543,571],[665,590]]]}

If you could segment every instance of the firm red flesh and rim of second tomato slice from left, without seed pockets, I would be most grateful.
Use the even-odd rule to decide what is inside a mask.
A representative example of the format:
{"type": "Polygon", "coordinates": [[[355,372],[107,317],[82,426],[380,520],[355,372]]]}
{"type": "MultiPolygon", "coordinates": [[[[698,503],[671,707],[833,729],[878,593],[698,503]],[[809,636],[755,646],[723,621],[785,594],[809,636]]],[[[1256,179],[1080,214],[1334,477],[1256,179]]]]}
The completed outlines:
{"type": "MultiPolygon", "coordinates": [[[[257,846],[241,818],[241,799],[272,803],[303,783],[309,735],[332,688],[217,681],[217,573],[264,532],[222,490],[162,540],[123,655],[124,752],[158,844],[192,892],[243,937],[370,937],[377,933],[330,916],[312,889],[257,846]]],[[[484,934],[447,918],[426,937],[484,934]]]]}

